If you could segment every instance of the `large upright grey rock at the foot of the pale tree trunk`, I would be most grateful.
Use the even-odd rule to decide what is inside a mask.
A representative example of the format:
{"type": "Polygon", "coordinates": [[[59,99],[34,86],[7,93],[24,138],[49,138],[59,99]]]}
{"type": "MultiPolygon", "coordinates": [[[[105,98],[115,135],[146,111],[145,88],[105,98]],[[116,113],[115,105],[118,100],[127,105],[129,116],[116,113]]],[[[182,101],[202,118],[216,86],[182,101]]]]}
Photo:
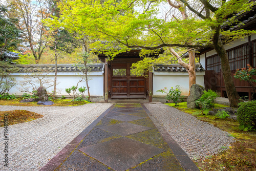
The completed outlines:
{"type": "Polygon", "coordinates": [[[204,94],[204,87],[199,84],[193,84],[190,88],[190,94],[187,97],[187,108],[196,108],[196,100],[204,94]]]}

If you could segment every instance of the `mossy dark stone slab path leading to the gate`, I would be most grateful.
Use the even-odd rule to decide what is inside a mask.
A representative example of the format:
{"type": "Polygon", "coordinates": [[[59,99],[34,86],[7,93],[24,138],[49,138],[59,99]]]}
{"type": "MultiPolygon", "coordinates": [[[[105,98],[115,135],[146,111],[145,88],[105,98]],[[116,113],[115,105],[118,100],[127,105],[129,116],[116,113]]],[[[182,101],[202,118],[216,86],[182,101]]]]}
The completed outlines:
{"type": "Polygon", "coordinates": [[[143,104],[115,104],[40,170],[199,170],[143,104]]]}

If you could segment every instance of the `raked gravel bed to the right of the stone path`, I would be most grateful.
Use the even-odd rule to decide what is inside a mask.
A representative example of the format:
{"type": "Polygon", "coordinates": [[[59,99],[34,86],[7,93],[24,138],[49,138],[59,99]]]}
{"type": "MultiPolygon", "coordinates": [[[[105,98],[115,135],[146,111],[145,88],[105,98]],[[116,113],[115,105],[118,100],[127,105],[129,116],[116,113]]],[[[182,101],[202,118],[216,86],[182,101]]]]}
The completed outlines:
{"type": "Polygon", "coordinates": [[[144,105],[191,159],[217,154],[234,142],[227,132],[173,107],[161,103],[144,105]]]}

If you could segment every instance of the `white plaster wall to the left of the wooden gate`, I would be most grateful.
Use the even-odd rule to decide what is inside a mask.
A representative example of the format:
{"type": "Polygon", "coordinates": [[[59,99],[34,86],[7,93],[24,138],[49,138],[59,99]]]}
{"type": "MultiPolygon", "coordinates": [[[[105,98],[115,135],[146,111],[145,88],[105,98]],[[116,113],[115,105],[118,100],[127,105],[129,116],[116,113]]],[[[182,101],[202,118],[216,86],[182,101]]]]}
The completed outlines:
{"type": "MultiPolygon", "coordinates": [[[[56,86],[56,91],[60,91],[60,94],[57,95],[64,95],[69,97],[69,94],[66,93],[65,89],[71,88],[72,86],[76,86],[77,82],[79,81],[80,76],[82,73],[77,73],[77,72],[58,72],[57,73],[57,86],[56,86]]],[[[24,80],[24,75],[25,73],[14,73],[12,76],[14,76],[17,80],[17,82],[24,80]]],[[[54,80],[54,73],[48,74],[48,78],[54,80]]],[[[96,71],[96,72],[90,72],[88,75],[89,81],[89,87],[90,87],[90,95],[91,96],[103,96],[103,73],[102,71],[96,71]]],[[[13,87],[10,91],[9,94],[17,94],[17,95],[22,95],[23,92],[20,92],[19,88],[24,85],[22,84],[17,84],[15,87],[13,87]]],[[[87,87],[86,82],[80,82],[78,84],[78,88],[80,87],[87,87]]],[[[37,84],[37,87],[39,87],[39,84],[37,84]]],[[[32,90],[32,88],[30,89],[32,90]]],[[[47,89],[49,92],[53,91],[53,87],[47,89]]],[[[85,93],[88,95],[87,91],[85,93]]]]}

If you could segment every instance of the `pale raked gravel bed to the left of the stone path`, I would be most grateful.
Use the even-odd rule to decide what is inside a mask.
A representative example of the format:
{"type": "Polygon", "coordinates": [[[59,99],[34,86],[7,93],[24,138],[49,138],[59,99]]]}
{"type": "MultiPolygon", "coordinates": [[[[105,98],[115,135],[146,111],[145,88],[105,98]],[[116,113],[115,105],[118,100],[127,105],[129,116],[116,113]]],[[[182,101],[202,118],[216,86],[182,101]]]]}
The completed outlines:
{"type": "Polygon", "coordinates": [[[0,170],[38,170],[63,147],[89,126],[112,104],[92,103],[82,106],[6,106],[0,111],[28,110],[43,118],[8,126],[9,166],[5,167],[4,127],[1,130],[0,170]]]}

